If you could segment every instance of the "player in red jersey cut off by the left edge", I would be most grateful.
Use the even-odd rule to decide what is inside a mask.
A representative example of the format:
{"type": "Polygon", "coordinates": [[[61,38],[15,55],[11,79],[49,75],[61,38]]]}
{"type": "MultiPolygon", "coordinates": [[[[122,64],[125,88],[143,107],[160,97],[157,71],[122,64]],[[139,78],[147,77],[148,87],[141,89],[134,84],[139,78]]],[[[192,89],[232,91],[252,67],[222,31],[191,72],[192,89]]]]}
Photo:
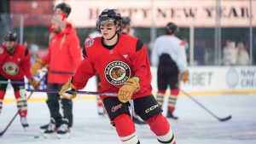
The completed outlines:
{"type": "MultiPolygon", "coordinates": [[[[4,37],[3,45],[0,46],[0,80],[8,82],[19,81],[24,82],[24,76],[29,79],[30,84],[36,87],[38,81],[32,78],[29,72],[30,55],[28,50],[16,43],[17,34],[15,32],[8,32],[4,37]]],[[[23,127],[28,127],[26,120],[27,101],[26,89],[24,84],[11,84],[15,89],[15,98],[17,100],[17,107],[20,114],[20,122],[23,127]]],[[[0,84],[0,114],[3,107],[3,98],[7,89],[6,84],[0,84]]]]}

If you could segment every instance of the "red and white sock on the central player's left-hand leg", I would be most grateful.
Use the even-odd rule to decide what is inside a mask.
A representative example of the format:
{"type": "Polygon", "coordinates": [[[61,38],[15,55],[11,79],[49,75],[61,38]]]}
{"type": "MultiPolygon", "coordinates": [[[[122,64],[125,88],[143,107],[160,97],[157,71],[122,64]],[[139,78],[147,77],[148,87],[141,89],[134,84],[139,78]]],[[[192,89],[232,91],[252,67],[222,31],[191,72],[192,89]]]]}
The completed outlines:
{"type": "Polygon", "coordinates": [[[120,114],[113,119],[119,139],[123,144],[137,144],[139,143],[135,133],[135,126],[132,123],[131,117],[127,114],[120,114]]]}

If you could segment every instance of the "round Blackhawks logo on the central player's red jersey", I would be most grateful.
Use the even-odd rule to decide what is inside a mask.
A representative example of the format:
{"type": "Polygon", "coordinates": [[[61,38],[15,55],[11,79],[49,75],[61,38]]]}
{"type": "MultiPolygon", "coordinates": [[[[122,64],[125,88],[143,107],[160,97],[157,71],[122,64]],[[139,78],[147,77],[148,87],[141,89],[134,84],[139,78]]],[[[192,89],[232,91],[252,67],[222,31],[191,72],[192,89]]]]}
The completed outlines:
{"type": "Polygon", "coordinates": [[[131,68],[123,61],[113,61],[105,68],[105,78],[113,85],[124,84],[131,77],[131,68]]]}

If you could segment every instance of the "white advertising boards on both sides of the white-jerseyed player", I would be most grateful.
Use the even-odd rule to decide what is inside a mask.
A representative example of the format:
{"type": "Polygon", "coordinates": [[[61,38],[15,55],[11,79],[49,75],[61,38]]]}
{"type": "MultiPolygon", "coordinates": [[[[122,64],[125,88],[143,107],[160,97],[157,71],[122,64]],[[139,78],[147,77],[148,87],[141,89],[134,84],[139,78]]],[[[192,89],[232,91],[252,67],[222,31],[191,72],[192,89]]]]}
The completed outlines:
{"type": "MultiPolygon", "coordinates": [[[[156,67],[152,67],[157,91],[156,67]]],[[[256,94],[256,66],[190,66],[189,82],[181,89],[198,95],[256,94]]]]}

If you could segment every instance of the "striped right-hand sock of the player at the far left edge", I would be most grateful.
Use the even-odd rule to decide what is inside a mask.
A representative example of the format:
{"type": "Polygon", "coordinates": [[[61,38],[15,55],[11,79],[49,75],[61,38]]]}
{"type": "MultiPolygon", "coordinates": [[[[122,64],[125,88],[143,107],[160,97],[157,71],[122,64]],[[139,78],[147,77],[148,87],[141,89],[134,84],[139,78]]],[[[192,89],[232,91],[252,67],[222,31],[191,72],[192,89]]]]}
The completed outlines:
{"type": "Polygon", "coordinates": [[[20,117],[26,117],[27,114],[27,101],[26,101],[26,96],[21,96],[20,91],[15,91],[15,97],[17,100],[17,107],[18,110],[20,111],[20,117]]]}

